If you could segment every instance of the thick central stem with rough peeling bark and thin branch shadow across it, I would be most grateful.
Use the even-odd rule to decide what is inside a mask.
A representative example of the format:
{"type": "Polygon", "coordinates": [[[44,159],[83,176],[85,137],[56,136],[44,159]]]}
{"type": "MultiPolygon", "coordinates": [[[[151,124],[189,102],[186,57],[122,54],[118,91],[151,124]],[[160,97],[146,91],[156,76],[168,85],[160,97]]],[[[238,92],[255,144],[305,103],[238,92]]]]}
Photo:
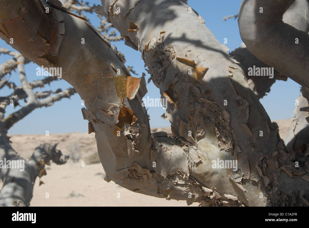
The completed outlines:
{"type": "MultiPolygon", "coordinates": [[[[206,205],[223,205],[220,196],[224,194],[237,196],[249,206],[275,203],[279,192],[286,191],[278,187],[278,179],[286,178],[278,163],[289,163],[281,158],[286,149],[277,126],[271,123],[235,60],[226,53],[225,45],[215,39],[197,13],[187,9],[184,1],[163,0],[106,1],[102,8],[127,44],[141,51],[161,97],[168,98],[165,116],[178,146],[183,152],[190,147],[193,154],[197,153],[195,157],[201,158],[190,162],[188,156],[186,161],[176,144],[165,152],[177,157],[173,163],[159,156],[161,150],[153,155],[159,156],[156,161],[165,170],[160,173],[172,175],[174,170],[167,167],[175,164],[176,169],[217,192],[210,201],[204,198],[208,199],[206,205]],[[130,29],[132,24],[134,31],[130,29]],[[192,75],[188,74],[190,70],[192,75]],[[238,170],[212,169],[211,161],[217,158],[237,159],[238,170]],[[177,164],[180,161],[183,163],[177,164]],[[186,164],[188,170],[183,168],[186,164]],[[190,168],[189,164],[194,165],[190,168]]],[[[303,189],[307,192],[308,182],[300,178],[297,181],[306,186],[303,189]]],[[[295,187],[292,192],[297,190],[295,187]]]]}

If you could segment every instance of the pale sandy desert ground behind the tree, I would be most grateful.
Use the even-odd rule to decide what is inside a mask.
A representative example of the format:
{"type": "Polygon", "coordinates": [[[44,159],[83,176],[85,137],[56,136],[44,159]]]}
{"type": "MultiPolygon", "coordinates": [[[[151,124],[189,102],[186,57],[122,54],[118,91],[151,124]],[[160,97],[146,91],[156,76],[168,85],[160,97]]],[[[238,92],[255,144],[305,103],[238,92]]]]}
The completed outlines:
{"type": "MultiPolygon", "coordinates": [[[[285,138],[291,120],[277,120],[281,138],[285,138]]],[[[152,132],[169,128],[151,129],[152,132]]],[[[13,148],[28,159],[36,146],[41,143],[59,142],[57,149],[65,155],[76,157],[79,161],[69,160],[64,165],[46,166],[47,175],[41,178],[44,182],[39,186],[39,178],[33,189],[31,206],[187,206],[185,201],[155,198],[131,192],[114,182],[104,181],[105,172],[101,163],[90,164],[98,160],[94,133],[61,133],[55,135],[11,135],[13,148]],[[72,154],[70,151],[74,151],[72,154]],[[80,151],[80,153],[78,153],[80,151]],[[91,156],[91,159],[89,158],[91,156]],[[81,162],[85,162],[85,167],[81,162]],[[120,196],[120,197],[119,197],[120,196]]],[[[2,184],[0,184],[0,188],[2,184]]],[[[198,206],[193,203],[190,206],[198,206]]]]}

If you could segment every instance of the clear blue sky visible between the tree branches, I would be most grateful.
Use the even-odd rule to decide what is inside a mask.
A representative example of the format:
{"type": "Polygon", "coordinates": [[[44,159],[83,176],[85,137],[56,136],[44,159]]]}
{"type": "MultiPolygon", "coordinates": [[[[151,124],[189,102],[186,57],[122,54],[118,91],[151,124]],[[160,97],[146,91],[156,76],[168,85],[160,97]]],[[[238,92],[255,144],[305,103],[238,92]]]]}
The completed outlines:
{"type": "MultiPolygon", "coordinates": [[[[87,2],[100,4],[98,0],[87,0],[87,2]]],[[[229,19],[222,21],[223,16],[238,14],[241,0],[188,0],[189,6],[196,10],[199,15],[205,20],[206,26],[214,33],[216,38],[223,44],[224,38],[227,38],[226,46],[230,48],[230,51],[238,48],[242,42],[239,36],[239,29],[237,20],[229,19]]],[[[95,14],[87,14],[90,22],[96,27],[99,24],[99,19],[95,14]]],[[[133,75],[135,77],[141,77],[142,73],[146,74],[146,82],[150,77],[144,70],[144,62],[141,59],[141,53],[135,51],[132,48],[126,46],[124,41],[111,42],[115,44],[117,49],[124,53],[127,62],[126,66],[133,66],[133,70],[138,73],[133,75]]],[[[3,40],[0,39],[0,46],[11,49],[11,46],[7,45],[3,40]]],[[[0,63],[10,59],[10,56],[0,55],[0,63]]],[[[33,63],[25,65],[26,76],[28,82],[41,79],[43,77],[36,76],[36,68],[38,66],[33,63]]],[[[19,76],[13,72],[10,81],[15,82],[16,85],[20,85],[19,76]]],[[[44,88],[38,88],[35,91],[49,91],[57,90],[61,88],[65,90],[70,87],[64,80],[58,80],[46,85],[44,88]]],[[[148,93],[145,97],[160,98],[159,89],[154,86],[152,82],[147,85],[148,93]]],[[[0,96],[7,96],[11,94],[13,90],[7,87],[0,90],[0,96]]],[[[287,82],[276,81],[271,87],[270,93],[267,94],[263,99],[260,99],[264,105],[265,110],[268,112],[272,120],[287,119],[293,115],[295,108],[295,99],[299,95],[299,85],[288,79],[287,82]]],[[[20,105],[24,105],[21,101],[20,105]]],[[[81,108],[81,99],[78,94],[71,96],[70,99],[62,99],[61,101],[55,102],[53,106],[48,108],[38,108],[26,116],[23,120],[17,122],[11,129],[9,134],[45,134],[45,131],[49,131],[49,134],[55,133],[67,133],[67,132],[87,132],[88,122],[83,120],[81,108]]],[[[13,106],[6,108],[6,116],[11,112],[15,112],[16,109],[13,106]]],[[[148,113],[150,115],[150,126],[161,127],[170,126],[169,121],[161,119],[161,115],[164,113],[162,107],[149,107],[148,113]]]]}

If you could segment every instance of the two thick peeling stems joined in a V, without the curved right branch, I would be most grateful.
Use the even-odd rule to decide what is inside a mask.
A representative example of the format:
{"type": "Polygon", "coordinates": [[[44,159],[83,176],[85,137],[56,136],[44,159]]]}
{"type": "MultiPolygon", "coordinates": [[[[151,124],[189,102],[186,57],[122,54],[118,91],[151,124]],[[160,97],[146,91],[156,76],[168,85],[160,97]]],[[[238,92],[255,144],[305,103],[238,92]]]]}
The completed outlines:
{"type": "Polygon", "coordinates": [[[12,9],[0,3],[3,12],[12,12],[0,13],[0,23],[12,30],[0,29],[0,36],[14,37],[12,46],[39,65],[62,67],[62,78],[85,100],[83,117],[89,133],[95,132],[107,181],[203,206],[306,205],[306,170],[293,167],[277,125],[226,46],[185,1],[110,0],[101,8],[126,44],[141,51],[151,79],[169,102],[165,116],[175,137],[150,134],[142,106],[145,79],[130,77],[123,55],[89,23],[63,10],[45,14],[48,6],[39,1],[14,2],[12,9]],[[38,13],[30,14],[33,10],[38,13]],[[14,32],[22,27],[28,28],[23,34],[14,32]],[[46,28],[52,32],[45,34],[46,28]],[[60,34],[55,42],[53,32],[60,34]],[[81,38],[87,45],[79,43],[81,38]],[[237,171],[213,168],[217,159],[237,160],[237,171]]]}

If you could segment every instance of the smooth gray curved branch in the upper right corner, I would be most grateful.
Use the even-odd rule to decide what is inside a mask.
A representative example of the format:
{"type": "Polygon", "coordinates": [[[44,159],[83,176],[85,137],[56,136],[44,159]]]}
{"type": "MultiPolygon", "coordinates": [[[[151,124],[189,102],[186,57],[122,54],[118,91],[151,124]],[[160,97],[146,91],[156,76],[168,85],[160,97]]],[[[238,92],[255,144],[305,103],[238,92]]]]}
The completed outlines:
{"type": "Polygon", "coordinates": [[[243,0],[239,32],[252,54],[299,83],[309,99],[309,35],[282,21],[294,1],[243,0]]]}

